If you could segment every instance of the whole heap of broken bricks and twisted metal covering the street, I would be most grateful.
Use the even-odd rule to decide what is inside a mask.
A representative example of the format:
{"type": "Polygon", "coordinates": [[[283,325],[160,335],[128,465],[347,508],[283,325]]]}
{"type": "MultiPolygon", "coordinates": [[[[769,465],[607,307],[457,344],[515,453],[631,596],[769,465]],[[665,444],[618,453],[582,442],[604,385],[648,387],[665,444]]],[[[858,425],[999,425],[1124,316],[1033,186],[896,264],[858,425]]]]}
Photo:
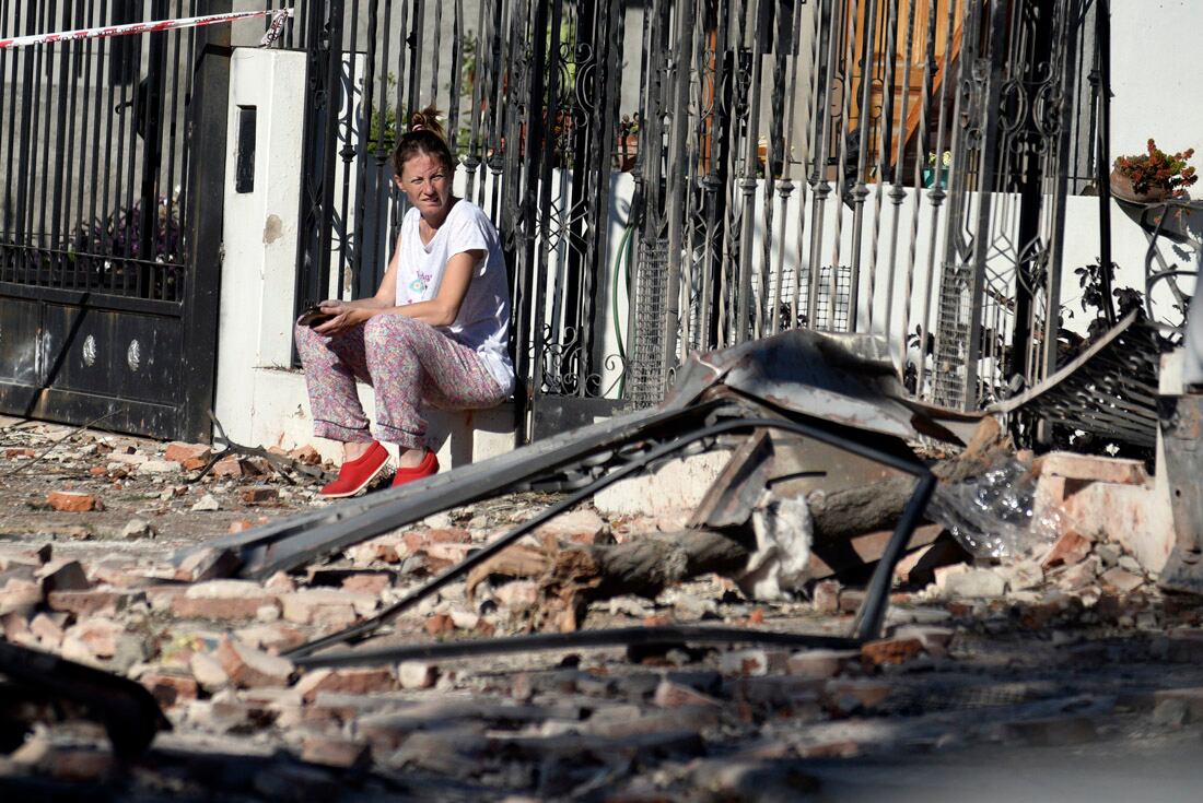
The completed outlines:
{"type": "Polygon", "coordinates": [[[54,514],[124,505],[159,533],[6,519],[0,781],[796,799],[866,761],[1197,743],[1203,608],[1155,583],[1166,488],[1131,460],[1017,454],[989,417],[960,450],[965,422],[902,399],[887,357],[746,344],[692,359],[657,409],[328,507],[312,454],[242,447],[272,476],[213,478],[205,447],[69,433],[58,471],[23,463],[5,493],[46,517],[69,480],[106,483],[109,510],[54,514]],[[920,439],[952,446],[923,460],[920,439]],[[688,494],[640,472],[692,446],[729,457],[670,510],[688,494]],[[988,488],[1000,458],[1014,475],[988,488]],[[620,481],[654,505],[606,512],[620,481]]]}

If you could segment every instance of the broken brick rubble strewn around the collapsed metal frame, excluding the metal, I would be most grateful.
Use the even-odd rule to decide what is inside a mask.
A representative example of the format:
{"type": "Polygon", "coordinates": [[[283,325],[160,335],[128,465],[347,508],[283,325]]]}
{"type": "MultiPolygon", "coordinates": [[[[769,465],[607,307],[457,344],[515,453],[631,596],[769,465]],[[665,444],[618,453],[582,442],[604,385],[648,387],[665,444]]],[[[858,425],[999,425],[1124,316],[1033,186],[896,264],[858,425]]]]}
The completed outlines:
{"type": "MultiPolygon", "coordinates": [[[[373,615],[544,501],[456,510],[263,582],[211,578],[203,561],[81,561],[10,545],[5,637],[136,679],[174,730],[131,774],[94,728],[38,722],[0,767],[13,783],[143,795],[759,798],[812,789],[817,759],[1184,733],[1203,716],[1201,611],[1163,599],[1115,543],[1077,531],[1041,559],[1000,565],[950,563],[946,539],[913,552],[888,637],[859,649],[662,644],[309,670],[280,655],[373,615]],[[1165,661],[1183,664],[1155,672],[1165,661]]],[[[654,524],[585,507],[528,546],[617,542],[654,524]]],[[[476,591],[444,589],[379,641],[517,634],[539,601],[532,579],[476,591]]],[[[764,605],[707,576],[656,600],[615,597],[588,624],[840,634],[863,596],[828,579],[808,601],[764,605]]]]}

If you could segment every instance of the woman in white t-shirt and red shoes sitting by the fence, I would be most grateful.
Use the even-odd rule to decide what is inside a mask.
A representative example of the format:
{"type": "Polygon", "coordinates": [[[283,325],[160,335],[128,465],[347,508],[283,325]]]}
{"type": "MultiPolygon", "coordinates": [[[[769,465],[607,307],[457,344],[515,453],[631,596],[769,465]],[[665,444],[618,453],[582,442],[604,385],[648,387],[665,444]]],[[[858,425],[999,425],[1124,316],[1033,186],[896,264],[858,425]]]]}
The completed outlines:
{"type": "Polygon", "coordinates": [[[514,388],[500,240],[480,207],[451,194],[456,163],[435,109],[414,114],[392,161],[411,208],[380,289],[324,301],[322,322],[296,326],[314,434],[343,442],[338,478],[321,489],[327,498],[356,494],[385,469],[380,441],[399,450],[393,486],[435,474],[422,408],[491,408],[514,388]],[[375,391],[371,433],[356,377],[375,391]]]}

